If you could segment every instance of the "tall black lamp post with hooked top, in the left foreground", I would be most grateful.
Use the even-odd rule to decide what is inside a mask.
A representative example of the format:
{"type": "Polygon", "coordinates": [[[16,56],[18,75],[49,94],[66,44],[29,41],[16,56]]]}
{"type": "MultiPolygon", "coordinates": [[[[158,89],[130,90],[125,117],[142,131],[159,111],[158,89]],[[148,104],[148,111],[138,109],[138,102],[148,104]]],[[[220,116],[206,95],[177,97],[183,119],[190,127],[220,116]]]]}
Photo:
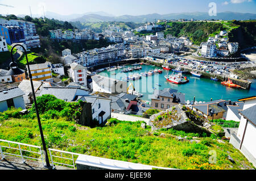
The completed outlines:
{"type": "Polygon", "coordinates": [[[26,49],[20,45],[20,44],[16,44],[13,46],[13,48],[11,48],[11,61],[14,62],[14,58],[13,58],[13,49],[16,46],[20,46],[23,48],[25,56],[26,56],[26,60],[27,60],[27,68],[28,68],[28,76],[30,78],[30,83],[31,83],[31,89],[32,89],[32,94],[34,97],[34,104],[35,104],[35,110],[36,110],[36,116],[38,117],[38,125],[39,125],[39,130],[40,130],[40,134],[41,134],[41,138],[42,138],[42,144],[43,144],[43,150],[44,150],[44,154],[45,154],[45,159],[46,159],[46,167],[47,169],[52,169],[51,165],[49,164],[49,159],[48,159],[48,154],[47,154],[47,149],[46,149],[46,142],[44,141],[44,134],[43,134],[43,130],[42,130],[42,125],[41,125],[41,121],[40,121],[40,116],[39,116],[39,112],[38,112],[38,104],[36,103],[36,96],[35,96],[35,91],[34,91],[34,85],[33,85],[33,81],[32,81],[32,75],[31,75],[31,71],[30,71],[30,66],[28,64],[28,59],[27,59],[27,52],[26,49]]]}

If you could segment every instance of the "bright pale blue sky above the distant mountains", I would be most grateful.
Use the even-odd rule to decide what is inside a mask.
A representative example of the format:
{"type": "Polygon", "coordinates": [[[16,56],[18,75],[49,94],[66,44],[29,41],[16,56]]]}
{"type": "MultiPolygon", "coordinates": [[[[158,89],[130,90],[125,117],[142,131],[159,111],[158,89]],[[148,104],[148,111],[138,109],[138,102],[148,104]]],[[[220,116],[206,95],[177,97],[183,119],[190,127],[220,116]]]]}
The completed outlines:
{"type": "Polygon", "coordinates": [[[61,15],[104,11],[115,16],[208,12],[209,3],[216,3],[217,12],[233,11],[256,14],[256,0],[0,0],[0,14],[43,15],[51,11],[61,15]]]}

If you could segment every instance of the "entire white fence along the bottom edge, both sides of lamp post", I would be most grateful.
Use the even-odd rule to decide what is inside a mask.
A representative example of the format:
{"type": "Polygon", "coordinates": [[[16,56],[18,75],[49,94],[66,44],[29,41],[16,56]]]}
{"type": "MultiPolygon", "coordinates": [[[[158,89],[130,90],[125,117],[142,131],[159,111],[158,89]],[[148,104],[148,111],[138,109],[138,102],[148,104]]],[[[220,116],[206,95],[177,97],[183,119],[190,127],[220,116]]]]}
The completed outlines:
{"type": "MultiPolygon", "coordinates": [[[[142,165],[142,164],[139,164],[139,163],[118,161],[118,160],[108,159],[108,158],[94,157],[94,156],[90,156],[90,155],[72,153],[72,152],[69,152],[69,151],[62,151],[62,150],[56,150],[56,149],[48,149],[48,150],[49,150],[49,155],[51,157],[51,165],[52,166],[54,166],[53,163],[55,163],[55,164],[58,164],[58,165],[64,165],[64,166],[73,167],[73,169],[76,169],[76,161],[75,160],[77,159],[78,156],[81,156],[81,158],[83,159],[82,162],[85,163],[85,165],[88,164],[89,166],[98,167],[98,168],[135,169],[135,170],[137,170],[137,169],[138,170],[144,170],[144,169],[146,169],[146,170],[152,170],[152,169],[176,170],[176,169],[171,169],[171,168],[166,168],[166,167],[156,167],[156,166],[150,166],[150,165],[142,165]],[[54,161],[53,158],[57,158],[58,161],[54,161]],[[60,162],[60,160],[63,160],[63,162],[60,162]],[[68,161],[68,163],[67,163],[67,161],[68,161]]],[[[7,140],[0,140],[0,153],[1,153],[2,159],[5,158],[5,154],[10,154],[10,155],[21,157],[23,163],[25,162],[24,158],[37,159],[38,161],[42,161],[44,163],[44,157],[43,157],[43,153],[42,153],[42,150],[41,150],[40,146],[22,144],[22,143],[19,143],[19,142],[13,142],[13,141],[7,141],[7,140]],[[9,146],[5,146],[3,144],[3,142],[5,144],[8,144],[9,146]],[[18,148],[13,148],[13,147],[11,147],[10,144],[18,145],[18,148]],[[20,147],[20,145],[26,146],[30,150],[22,149],[20,147]],[[7,152],[4,152],[2,150],[2,148],[19,150],[20,154],[7,153],[7,152]],[[39,152],[32,151],[31,148],[39,149],[39,152]],[[28,152],[31,152],[31,153],[34,153],[34,154],[39,154],[39,156],[41,158],[39,159],[39,158],[24,156],[22,154],[22,151],[28,151],[28,152]]],[[[81,162],[81,161],[79,161],[79,162],[81,162]]]]}

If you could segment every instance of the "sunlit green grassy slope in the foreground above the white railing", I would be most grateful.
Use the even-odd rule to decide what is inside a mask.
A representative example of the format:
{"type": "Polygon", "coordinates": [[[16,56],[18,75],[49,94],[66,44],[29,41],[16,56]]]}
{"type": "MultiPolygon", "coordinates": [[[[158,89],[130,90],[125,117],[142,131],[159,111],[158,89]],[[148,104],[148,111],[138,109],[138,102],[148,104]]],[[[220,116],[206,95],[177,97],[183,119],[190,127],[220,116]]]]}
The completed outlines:
{"type": "MultiPolygon", "coordinates": [[[[36,120],[9,119],[2,120],[1,124],[1,139],[40,145],[36,120]]],[[[119,122],[112,127],[91,129],[61,118],[42,119],[42,127],[47,148],[177,169],[241,169],[242,165],[251,167],[240,151],[228,142],[218,143],[209,137],[197,138],[201,140],[200,144],[177,141],[173,135],[187,135],[192,139],[193,134],[176,131],[152,134],[150,128],[142,129],[141,123],[119,122]],[[160,133],[165,136],[161,137],[160,133]],[[210,150],[217,153],[217,162],[213,165],[208,163],[210,150]],[[228,160],[227,151],[236,163],[232,164],[228,160]]]]}

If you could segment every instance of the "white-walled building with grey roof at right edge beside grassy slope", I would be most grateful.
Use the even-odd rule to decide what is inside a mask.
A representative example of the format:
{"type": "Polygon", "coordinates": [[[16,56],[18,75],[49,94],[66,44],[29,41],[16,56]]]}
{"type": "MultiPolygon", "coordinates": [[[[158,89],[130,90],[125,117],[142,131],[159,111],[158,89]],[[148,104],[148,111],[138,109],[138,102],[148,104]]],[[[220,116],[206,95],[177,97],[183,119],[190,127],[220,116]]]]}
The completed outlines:
{"type": "Polygon", "coordinates": [[[256,96],[240,99],[244,102],[240,111],[241,120],[236,135],[230,136],[230,143],[256,166],[256,96]]]}

